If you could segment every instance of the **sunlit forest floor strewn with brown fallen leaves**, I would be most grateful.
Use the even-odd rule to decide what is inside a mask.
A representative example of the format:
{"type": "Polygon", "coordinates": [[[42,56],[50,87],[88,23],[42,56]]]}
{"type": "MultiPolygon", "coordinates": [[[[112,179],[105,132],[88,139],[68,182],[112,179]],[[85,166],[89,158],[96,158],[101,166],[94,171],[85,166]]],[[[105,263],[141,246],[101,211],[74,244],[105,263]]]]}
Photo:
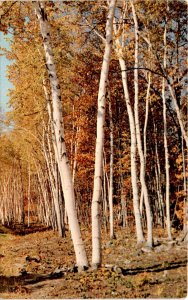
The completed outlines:
{"type": "MultiPolygon", "coordinates": [[[[89,258],[91,232],[82,230],[89,258]]],[[[9,232],[0,227],[0,298],[184,298],[187,295],[187,246],[180,233],[168,241],[154,230],[155,247],[136,245],[130,229],[103,233],[103,265],[77,273],[70,239],[53,231],[9,232]],[[176,238],[176,239],[175,239],[176,238]]]]}

